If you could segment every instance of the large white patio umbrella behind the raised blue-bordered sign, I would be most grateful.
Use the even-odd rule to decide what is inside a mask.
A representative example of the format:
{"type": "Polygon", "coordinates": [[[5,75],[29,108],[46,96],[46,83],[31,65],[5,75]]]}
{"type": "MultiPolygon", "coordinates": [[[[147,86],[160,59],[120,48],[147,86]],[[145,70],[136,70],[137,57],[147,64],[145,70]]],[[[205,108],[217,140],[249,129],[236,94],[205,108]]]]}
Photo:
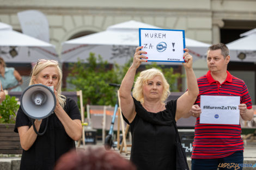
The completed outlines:
{"type": "MultiPolygon", "coordinates": [[[[65,41],[62,46],[61,60],[77,62],[78,58],[85,60],[89,57],[89,53],[93,52],[96,55],[101,55],[109,63],[125,64],[133,56],[135,48],[139,46],[139,28],[159,29],[159,27],[137,21],[115,24],[103,32],[65,41]]],[[[186,47],[191,50],[191,53],[199,57],[202,57],[210,46],[207,43],[187,38],[185,41],[186,47]]],[[[161,64],[163,63],[161,62],[161,64]]],[[[174,62],[164,64],[173,65],[174,62]]]]}

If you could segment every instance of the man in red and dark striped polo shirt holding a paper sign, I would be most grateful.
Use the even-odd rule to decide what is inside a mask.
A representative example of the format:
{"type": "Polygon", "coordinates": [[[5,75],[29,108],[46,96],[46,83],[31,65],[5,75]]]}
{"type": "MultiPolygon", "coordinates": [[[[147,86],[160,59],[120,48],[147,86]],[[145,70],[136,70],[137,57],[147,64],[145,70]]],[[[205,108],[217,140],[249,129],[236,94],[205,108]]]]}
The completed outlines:
{"type": "Polygon", "coordinates": [[[207,55],[209,71],[197,80],[199,95],[189,114],[197,117],[191,156],[192,170],[216,170],[219,165],[222,165],[220,163],[229,163],[230,166],[234,163],[236,167],[238,163],[243,163],[240,124],[199,123],[200,95],[240,96],[239,110],[242,119],[249,121],[253,118],[252,101],[247,86],[243,80],[227,71],[229,60],[229,49],[223,43],[210,46],[207,55]]]}

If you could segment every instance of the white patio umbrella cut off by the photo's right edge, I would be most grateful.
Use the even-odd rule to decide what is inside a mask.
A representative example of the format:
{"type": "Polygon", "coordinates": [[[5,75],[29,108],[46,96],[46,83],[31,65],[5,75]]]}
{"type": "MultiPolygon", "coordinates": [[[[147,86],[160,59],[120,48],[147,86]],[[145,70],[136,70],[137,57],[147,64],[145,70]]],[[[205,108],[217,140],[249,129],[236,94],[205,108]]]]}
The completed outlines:
{"type": "Polygon", "coordinates": [[[240,39],[227,44],[230,61],[256,62],[256,28],[240,36],[240,39]]]}

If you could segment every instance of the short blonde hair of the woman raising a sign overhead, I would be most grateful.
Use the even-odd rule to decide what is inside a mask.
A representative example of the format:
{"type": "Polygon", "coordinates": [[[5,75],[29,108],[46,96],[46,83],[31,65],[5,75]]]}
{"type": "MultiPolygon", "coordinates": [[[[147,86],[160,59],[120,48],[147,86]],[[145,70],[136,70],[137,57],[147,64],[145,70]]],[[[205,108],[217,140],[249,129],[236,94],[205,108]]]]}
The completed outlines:
{"type": "Polygon", "coordinates": [[[162,78],[163,84],[163,93],[161,96],[161,102],[164,103],[167,97],[170,95],[169,84],[167,83],[166,78],[164,78],[163,73],[156,69],[150,68],[148,70],[144,70],[139,74],[139,77],[135,81],[135,85],[132,91],[133,97],[141,103],[144,103],[144,95],[143,95],[143,85],[150,79],[160,75],[162,78]]]}

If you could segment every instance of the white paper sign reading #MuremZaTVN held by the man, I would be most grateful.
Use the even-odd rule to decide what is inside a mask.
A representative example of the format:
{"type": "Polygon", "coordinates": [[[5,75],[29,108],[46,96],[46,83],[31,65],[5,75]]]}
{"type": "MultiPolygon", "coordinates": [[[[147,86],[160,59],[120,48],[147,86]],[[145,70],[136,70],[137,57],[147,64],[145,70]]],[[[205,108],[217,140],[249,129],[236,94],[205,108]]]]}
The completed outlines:
{"type": "Polygon", "coordinates": [[[239,96],[201,96],[200,123],[239,124],[239,96]]]}

